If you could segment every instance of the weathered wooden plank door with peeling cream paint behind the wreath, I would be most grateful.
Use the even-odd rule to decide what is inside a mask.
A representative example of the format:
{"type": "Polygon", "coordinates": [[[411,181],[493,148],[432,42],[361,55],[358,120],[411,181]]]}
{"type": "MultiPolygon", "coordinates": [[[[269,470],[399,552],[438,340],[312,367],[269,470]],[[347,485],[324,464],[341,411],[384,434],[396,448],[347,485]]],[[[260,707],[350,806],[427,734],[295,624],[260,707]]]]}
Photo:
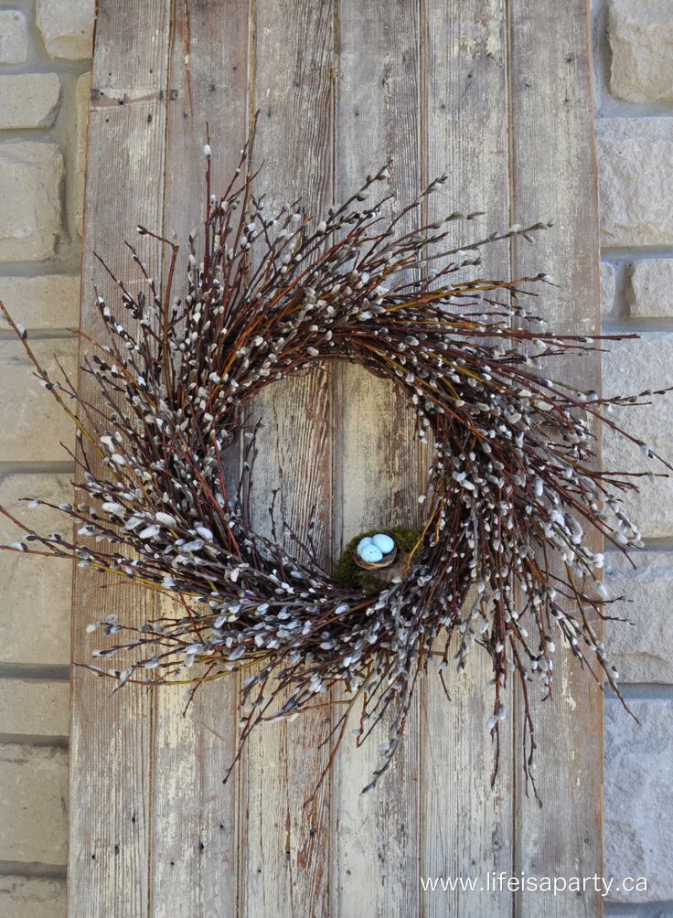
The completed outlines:
{"type": "MultiPolygon", "coordinates": [[[[595,330],[597,203],[587,0],[98,0],[90,104],[82,324],[99,333],[93,257],[131,274],[119,241],[137,223],[184,240],[203,217],[208,123],[216,174],[230,174],[252,112],[270,201],[302,194],[328,207],[392,157],[400,201],[447,172],[433,207],[484,210],[482,227],[551,218],[531,252],[500,248],[482,269],[545,270],[561,288],[541,308],[568,328],[595,330]],[[572,288],[571,296],[568,289],[572,288]],[[577,296],[577,292],[581,295],[577,296]]],[[[445,208],[449,208],[445,210],[445,208]]],[[[151,270],[162,252],[143,248],[151,270]]],[[[551,289],[551,288],[549,288],[551,289]]],[[[596,361],[578,384],[598,386],[596,361]]],[[[577,369],[573,370],[577,374],[577,369]]],[[[83,390],[95,398],[90,382],[83,390]]],[[[256,475],[282,487],[301,531],[315,511],[324,560],[371,525],[412,522],[426,458],[397,391],[334,364],[266,390],[256,475]]],[[[94,644],[98,610],[145,619],[156,600],[103,591],[76,571],[73,657],[94,644]]],[[[120,616],[121,617],[121,616],[120,616]]],[[[477,660],[419,692],[395,767],[360,795],[378,740],[343,747],[330,778],[305,800],[330,754],[329,713],[253,736],[222,776],[237,732],[237,684],[202,689],[182,716],[178,690],[107,684],[75,670],[71,757],[70,915],[197,918],[277,914],[598,915],[597,894],[553,897],[486,889],[507,878],[600,874],[600,695],[566,658],[555,699],[538,706],[544,739],[540,810],[526,798],[514,716],[499,784],[491,768],[486,682],[477,660]],[[580,688],[581,683],[581,688],[580,688]],[[476,890],[424,891],[421,878],[476,890]],[[491,880],[488,880],[488,878],[491,880]],[[480,887],[485,887],[480,891],[480,887]]],[[[516,707],[516,705],[514,705],[516,707]]]]}

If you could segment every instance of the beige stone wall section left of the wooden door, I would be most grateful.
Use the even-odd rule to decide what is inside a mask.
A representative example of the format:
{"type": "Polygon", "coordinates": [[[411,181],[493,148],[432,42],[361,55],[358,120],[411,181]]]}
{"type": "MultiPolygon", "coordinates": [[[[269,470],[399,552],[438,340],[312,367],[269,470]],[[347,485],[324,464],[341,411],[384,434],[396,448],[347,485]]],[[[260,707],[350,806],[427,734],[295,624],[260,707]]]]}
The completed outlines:
{"type": "MultiPolygon", "coordinates": [[[[94,0],[0,0],[0,298],[75,366],[94,0]]],[[[71,490],[53,399],[0,326],[0,499],[71,490]]],[[[60,526],[62,521],[46,522],[60,526]]],[[[0,521],[0,541],[16,538],[0,521]]],[[[65,914],[71,569],[0,554],[0,915],[65,914]]]]}

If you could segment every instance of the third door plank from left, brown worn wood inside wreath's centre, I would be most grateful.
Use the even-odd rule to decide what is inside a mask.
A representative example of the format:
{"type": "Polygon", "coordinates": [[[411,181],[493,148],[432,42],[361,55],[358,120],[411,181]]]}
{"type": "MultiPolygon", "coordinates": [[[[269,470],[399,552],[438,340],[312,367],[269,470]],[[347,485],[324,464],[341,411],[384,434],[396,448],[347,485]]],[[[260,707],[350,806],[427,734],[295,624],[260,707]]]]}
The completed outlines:
{"type": "MultiPolygon", "coordinates": [[[[256,159],[267,207],[302,195],[310,214],[332,196],[333,9],[331,3],[264,0],[252,7],[253,105],[260,108],[256,159]]],[[[255,400],[264,418],[255,468],[255,524],[268,531],[271,492],[278,517],[297,532],[316,521],[323,561],[331,557],[331,382],[326,369],[275,383],[255,400]],[[255,495],[256,491],[256,495],[255,495]],[[315,508],[315,510],[314,510],[315,508]]],[[[315,789],[329,756],[318,748],[329,713],[253,733],[241,763],[241,912],[329,913],[329,781],[315,789]]]]}

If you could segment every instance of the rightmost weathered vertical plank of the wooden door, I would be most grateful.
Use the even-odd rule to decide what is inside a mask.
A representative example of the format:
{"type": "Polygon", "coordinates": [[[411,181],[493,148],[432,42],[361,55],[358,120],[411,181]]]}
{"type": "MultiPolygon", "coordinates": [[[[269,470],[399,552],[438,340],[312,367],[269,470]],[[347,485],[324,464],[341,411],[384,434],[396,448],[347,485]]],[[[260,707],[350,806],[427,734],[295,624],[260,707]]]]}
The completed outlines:
{"type": "MultiPolygon", "coordinates": [[[[552,274],[560,289],[545,288],[542,314],[555,329],[591,335],[600,330],[600,307],[588,4],[573,0],[560,16],[552,0],[524,0],[512,6],[510,29],[514,218],[555,222],[534,249],[517,247],[513,270],[552,274]]],[[[598,354],[554,370],[600,389],[598,354]]],[[[542,810],[522,792],[521,761],[515,766],[516,873],[600,876],[601,695],[570,655],[557,657],[554,699],[543,704],[533,693],[542,810]]],[[[540,912],[599,915],[600,894],[517,897],[517,914],[540,912]]]]}

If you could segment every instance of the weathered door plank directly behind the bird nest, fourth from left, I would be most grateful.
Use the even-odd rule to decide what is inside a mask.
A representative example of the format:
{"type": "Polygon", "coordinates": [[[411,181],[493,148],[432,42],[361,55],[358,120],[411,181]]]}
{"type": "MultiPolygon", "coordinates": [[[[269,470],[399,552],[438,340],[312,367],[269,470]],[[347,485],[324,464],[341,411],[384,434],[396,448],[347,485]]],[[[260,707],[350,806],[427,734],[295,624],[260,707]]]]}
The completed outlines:
{"type": "MultiPolygon", "coordinates": [[[[383,193],[399,206],[421,185],[420,35],[415,9],[341,0],[335,131],[336,199],[391,157],[383,193]]],[[[402,229],[409,229],[409,221],[402,229]]],[[[337,364],[334,423],[334,543],[338,551],[371,527],[419,525],[422,483],[409,397],[362,367],[337,364]]],[[[360,749],[353,715],[332,776],[331,914],[418,914],[419,709],[376,790],[361,791],[380,766],[383,724],[360,749]]]]}

